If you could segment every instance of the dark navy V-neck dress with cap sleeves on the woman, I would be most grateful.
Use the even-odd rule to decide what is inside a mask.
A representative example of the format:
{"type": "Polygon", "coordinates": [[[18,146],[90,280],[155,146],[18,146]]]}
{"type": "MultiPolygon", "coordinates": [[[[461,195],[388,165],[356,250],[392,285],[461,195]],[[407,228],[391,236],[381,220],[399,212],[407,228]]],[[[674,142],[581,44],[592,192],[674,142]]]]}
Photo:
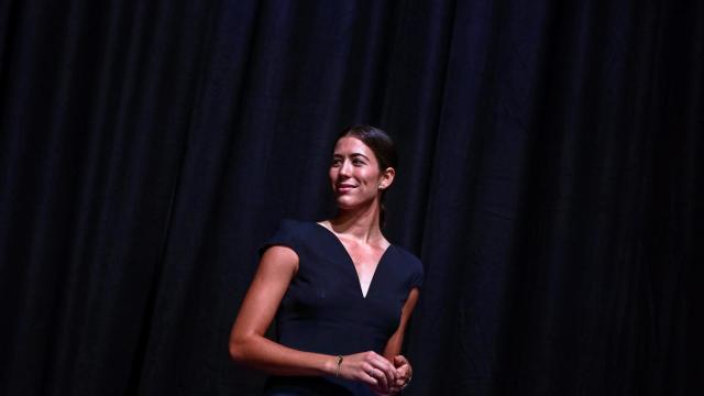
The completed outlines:
{"type": "MultiPolygon", "coordinates": [[[[298,272],[276,312],[279,343],[331,355],[383,354],[398,329],[408,293],[422,283],[422,265],[415,255],[388,246],[364,297],[350,254],[323,226],[283,220],[260,254],[273,245],[288,246],[298,254],[298,272]]],[[[272,376],[264,394],[373,395],[365,384],[333,376],[272,376]]]]}

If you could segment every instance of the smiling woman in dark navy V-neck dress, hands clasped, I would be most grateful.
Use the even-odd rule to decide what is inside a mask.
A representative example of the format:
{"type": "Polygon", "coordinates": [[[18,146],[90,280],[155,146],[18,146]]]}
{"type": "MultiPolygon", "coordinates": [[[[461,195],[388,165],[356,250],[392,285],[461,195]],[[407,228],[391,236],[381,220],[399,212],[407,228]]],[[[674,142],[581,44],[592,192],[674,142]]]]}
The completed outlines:
{"type": "Polygon", "coordinates": [[[273,375],[266,395],[393,395],[410,381],[400,348],[422,266],[381,231],[395,168],[386,133],[344,130],[329,172],[338,215],[284,220],[260,250],[230,354],[273,375]],[[264,337],[275,316],[277,342],[264,337]]]}

